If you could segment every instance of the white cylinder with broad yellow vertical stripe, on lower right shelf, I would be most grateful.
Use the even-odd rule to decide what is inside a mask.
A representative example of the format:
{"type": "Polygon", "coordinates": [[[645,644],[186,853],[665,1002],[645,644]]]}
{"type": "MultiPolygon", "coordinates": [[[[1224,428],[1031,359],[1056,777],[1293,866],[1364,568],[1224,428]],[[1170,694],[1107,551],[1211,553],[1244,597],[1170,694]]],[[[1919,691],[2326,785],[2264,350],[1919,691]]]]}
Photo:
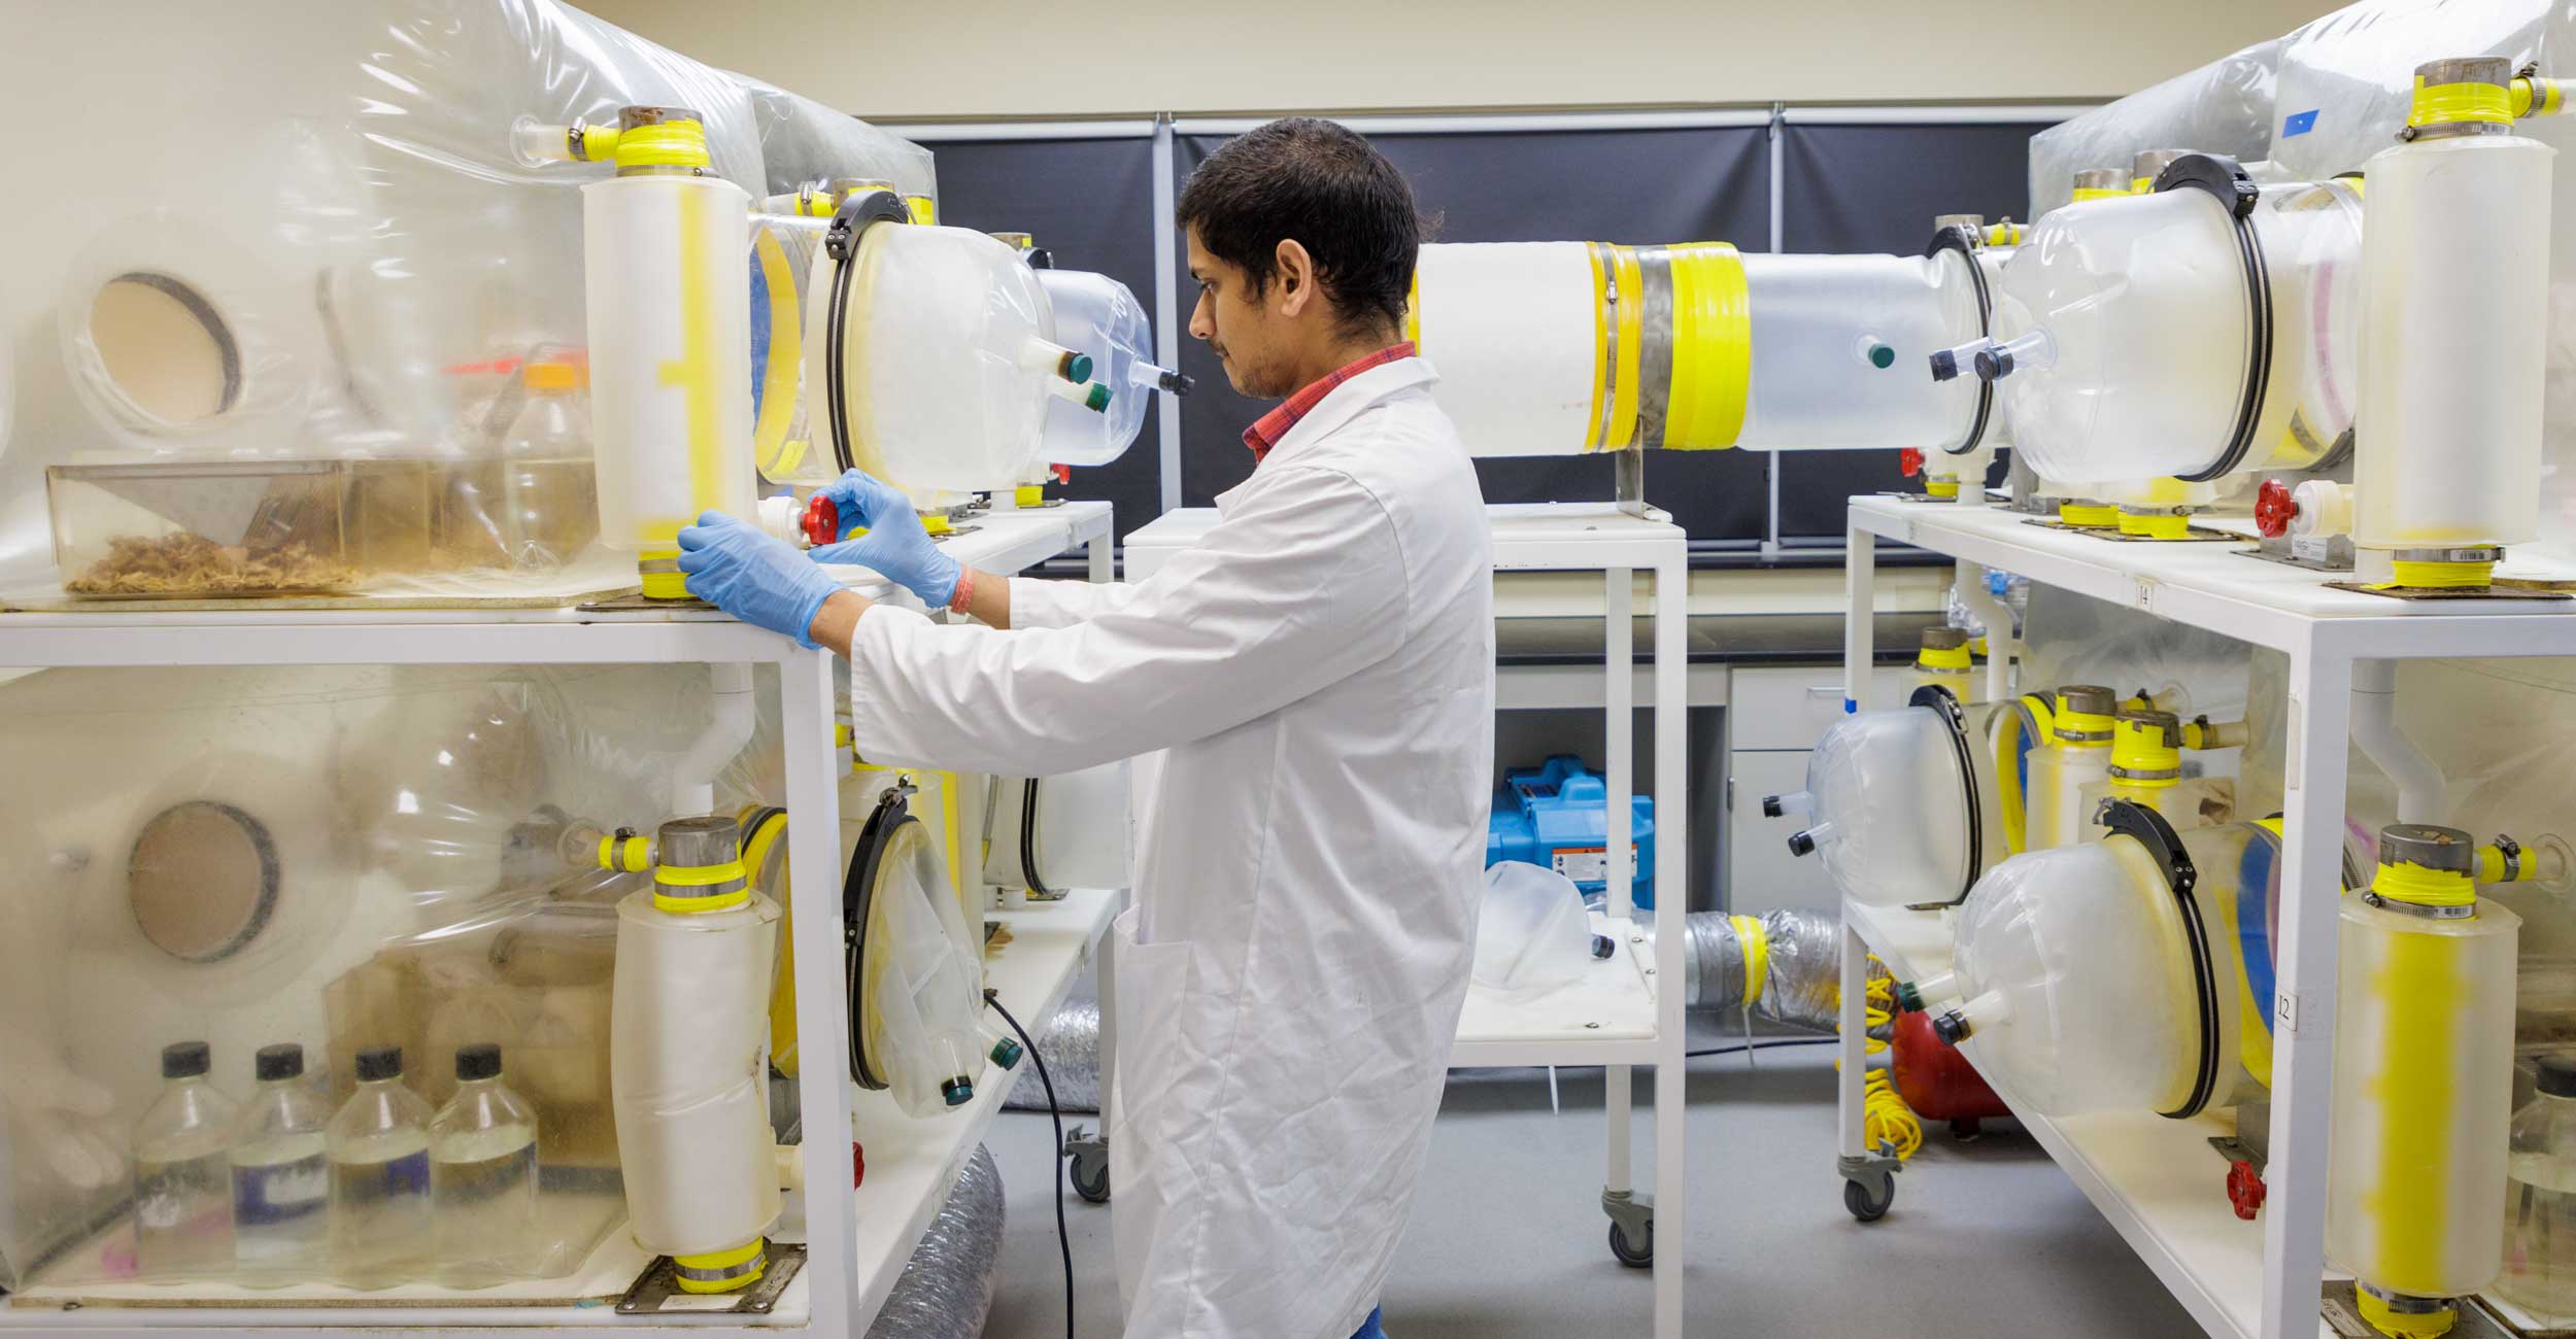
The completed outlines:
{"type": "Polygon", "coordinates": [[[2326,1259],[2365,1285],[2460,1298],[2504,1267],[2519,930],[2486,899],[2470,919],[2344,899],[2326,1259]]]}

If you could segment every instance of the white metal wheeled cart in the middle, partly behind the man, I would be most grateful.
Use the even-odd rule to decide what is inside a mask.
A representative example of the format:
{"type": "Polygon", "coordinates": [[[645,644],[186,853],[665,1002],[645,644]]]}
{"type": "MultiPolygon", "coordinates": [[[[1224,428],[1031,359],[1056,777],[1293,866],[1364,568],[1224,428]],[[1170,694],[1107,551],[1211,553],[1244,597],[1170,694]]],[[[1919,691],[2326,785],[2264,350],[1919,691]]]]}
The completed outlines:
{"type": "MultiPolygon", "coordinates": [[[[1654,1336],[1682,1336],[1682,1251],[1654,1244],[1687,1241],[1682,1082],[1687,1038],[1682,1025],[1685,968],[1680,930],[1646,935],[1628,904],[1633,845],[1628,832],[1636,785],[1636,577],[1651,574],[1654,667],[1654,886],[1656,906],[1672,909],[1674,927],[1690,901],[1690,767],[1687,767],[1687,590],[1690,546],[1680,525],[1651,507],[1620,505],[1494,505],[1494,572],[1600,572],[1602,675],[1610,785],[1607,886],[1610,906],[1595,930],[1615,953],[1592,976],[1533,1002],[1468,991],[1458,1020],[1450,1069],[1499,1066],[1607,1066],[1607,1174],[1602,1210],[1610,1215],[1613,1251],[1623,1262],[1654,1267],[1654,1336]],[[1631,1069],[1654,1069],[1654,1195],[1638,1195],[1631,1169],[1631,1069]]],[[[1216,512],[1164,512],[1128,536],[1128,577],[1151,574],[1170,554],[1190,546],[1216,523],[1216,512]]],[[[1504,700],[1502,706],[1515,706],[1504,700]]],[[[1556,706],[1535,695],[1525,706],[1556,706]]]]}

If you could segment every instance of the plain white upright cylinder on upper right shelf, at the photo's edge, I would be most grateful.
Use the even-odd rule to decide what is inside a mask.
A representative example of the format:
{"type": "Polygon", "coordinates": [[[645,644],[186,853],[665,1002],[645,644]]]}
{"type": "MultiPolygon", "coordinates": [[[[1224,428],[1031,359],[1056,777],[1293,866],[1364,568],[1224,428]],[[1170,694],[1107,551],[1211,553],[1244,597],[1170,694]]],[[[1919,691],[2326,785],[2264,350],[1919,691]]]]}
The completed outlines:
{"type": "Polygon", "coordinates": [[[2370,160],[2357,546],[2537,533],[2555,157],[2535,139],[2476,134],[2370,160]]]}

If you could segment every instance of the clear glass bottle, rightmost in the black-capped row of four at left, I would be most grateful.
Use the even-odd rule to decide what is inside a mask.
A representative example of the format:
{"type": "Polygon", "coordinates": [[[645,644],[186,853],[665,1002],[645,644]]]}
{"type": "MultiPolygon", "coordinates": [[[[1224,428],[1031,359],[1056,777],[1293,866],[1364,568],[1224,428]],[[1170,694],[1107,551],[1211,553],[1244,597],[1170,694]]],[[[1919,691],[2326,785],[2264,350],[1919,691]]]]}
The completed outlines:
{"type": "Polygon", "coordinates": [[[500,1076],[500,1045],[456,1048],[456,1094],[430,1118],[438,1280],[489,1288],[538,1272],[536,1107],[500,1076]]]}

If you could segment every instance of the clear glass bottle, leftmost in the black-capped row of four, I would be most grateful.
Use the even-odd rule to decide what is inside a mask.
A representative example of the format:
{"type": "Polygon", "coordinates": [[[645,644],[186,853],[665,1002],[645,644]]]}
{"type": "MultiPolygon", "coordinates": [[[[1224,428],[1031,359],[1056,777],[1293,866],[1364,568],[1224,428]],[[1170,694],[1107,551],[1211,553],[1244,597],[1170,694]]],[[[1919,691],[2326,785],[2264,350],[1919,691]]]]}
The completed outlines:
{"type": "Polygon", "coordinates": [[[162,1092],[134,1123],[134,1269],[149,1280],[232,1272],[232,1128],[201,1040],[162,1048],[162,1092]]]}

